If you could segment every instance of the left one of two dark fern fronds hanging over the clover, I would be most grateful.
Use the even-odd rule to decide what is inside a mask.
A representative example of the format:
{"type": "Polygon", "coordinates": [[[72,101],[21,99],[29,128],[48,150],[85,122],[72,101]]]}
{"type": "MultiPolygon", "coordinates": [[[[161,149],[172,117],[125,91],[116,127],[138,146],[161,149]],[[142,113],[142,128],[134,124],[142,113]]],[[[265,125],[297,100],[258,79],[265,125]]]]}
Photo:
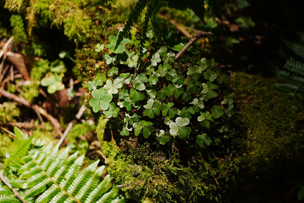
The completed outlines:
{"type": "Polygon", "coordinates": [[[133,26],[133,22],[137,23],[137,20],[143,11],[143,9],[146,7],[147,0],[139,0],[135,7],[132,9],[131,13],[128,15],[128,19],[126,21],[126,24],[123,27],[123,30],[118,33],[117,36],[117,42],[115,49],[119,46],[119,44],[123,41],[124,37],[127,37],[127,35],[130,33],[131,27],[133,26]]]}

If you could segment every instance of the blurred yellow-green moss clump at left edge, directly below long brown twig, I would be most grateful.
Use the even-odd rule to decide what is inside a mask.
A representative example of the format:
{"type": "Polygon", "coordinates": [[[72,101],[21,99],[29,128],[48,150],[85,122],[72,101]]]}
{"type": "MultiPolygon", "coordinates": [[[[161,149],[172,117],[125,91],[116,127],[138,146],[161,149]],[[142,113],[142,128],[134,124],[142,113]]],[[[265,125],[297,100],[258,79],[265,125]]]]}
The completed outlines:
{"type": "Polygon", "coordinates": [[[14,102],[0,104],[0,122],[14,122],[14,117],[20,116],[20,110],[14,102]]]}

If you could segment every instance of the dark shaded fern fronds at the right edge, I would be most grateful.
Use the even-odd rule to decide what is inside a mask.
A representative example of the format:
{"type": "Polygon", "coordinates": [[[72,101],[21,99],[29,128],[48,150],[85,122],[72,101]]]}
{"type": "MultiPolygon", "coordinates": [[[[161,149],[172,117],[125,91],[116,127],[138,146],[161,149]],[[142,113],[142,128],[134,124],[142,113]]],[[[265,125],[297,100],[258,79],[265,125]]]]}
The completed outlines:
{"type": "MultiPolygon", "coordinates": [[[[302,36],[302,33],[298,32],[298,34],[300,37],[302,36]]],[[[287,40],[283,41],[289,49],[304,59],[303,45],[287,40]]],[[[286,83],[277,83],[275,87],[290,92],[290,99],[293,104],[299,110],[304,110],[304,64],[294,59],[288,59],[284,68],[287,71],[279,70],[275,71],[275,74],[285,80],[286,83]]]]}

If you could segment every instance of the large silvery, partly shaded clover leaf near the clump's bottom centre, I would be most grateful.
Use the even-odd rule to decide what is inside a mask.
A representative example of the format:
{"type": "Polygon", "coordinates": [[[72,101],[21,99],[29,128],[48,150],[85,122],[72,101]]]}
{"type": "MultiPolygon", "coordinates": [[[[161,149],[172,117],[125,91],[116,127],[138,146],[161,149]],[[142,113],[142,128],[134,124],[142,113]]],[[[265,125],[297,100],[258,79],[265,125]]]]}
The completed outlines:
{"type": "Polygon", "coordinates": [[[191,133],[191,128],[184,127],[190,123],[190,120],[187,118],[177,117],[175,122],[170,123],[170,135],[178,135],[180,139],[184,139],[188,134],[191,133]]]}

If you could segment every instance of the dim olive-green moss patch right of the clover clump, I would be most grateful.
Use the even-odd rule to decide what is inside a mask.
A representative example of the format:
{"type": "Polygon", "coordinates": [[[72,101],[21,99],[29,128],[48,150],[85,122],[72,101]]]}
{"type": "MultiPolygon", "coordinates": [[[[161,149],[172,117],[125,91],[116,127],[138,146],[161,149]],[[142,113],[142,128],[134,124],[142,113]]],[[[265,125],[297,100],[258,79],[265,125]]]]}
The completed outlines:
{"type": "Polygon", "coordinates": [[[247,129],[242,162],[248,170],[265,170],[275,161],[291,158],[297,153],[294,146],[304,148],[303,126],[295,125],[299,116],[288,95],[273,86],[275,79],[244,73],[233,74],[232,79],[241,122],[247,129]]]}

